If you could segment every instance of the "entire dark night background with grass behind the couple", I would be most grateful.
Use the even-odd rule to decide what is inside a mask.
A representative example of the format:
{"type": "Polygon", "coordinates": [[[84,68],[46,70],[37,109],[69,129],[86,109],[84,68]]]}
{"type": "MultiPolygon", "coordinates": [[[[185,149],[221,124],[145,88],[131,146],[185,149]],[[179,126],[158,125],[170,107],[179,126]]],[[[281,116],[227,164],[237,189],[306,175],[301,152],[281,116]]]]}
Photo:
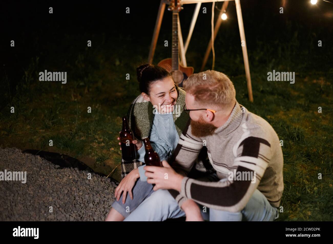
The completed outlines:
{"type": "MultiPolygon", "coordinates": [[[[240,1],[254,102],[248,101],[234,1],[215,40],[215,70],[234,82],[237,101],[284,140],[285,212],[280,220],[332,220],[333,4],[286,0],[280,14],[282,2],[240,1]],[[267,81],[273,69],[295,72],[295,84],[267,81]],[[322,181],[320,172],[326,174],[322,181]]],[[[66,153],[108,175],[120,162],[120,118],[139,95],[136,67],[147,62],[159,5],[157,0],[2,2],[0,146],[66,153]],[[39,81],[45,69],[66,71],[67,84],[39,81]],[[95,113],[87,115],[88,106],[95,113]],[[57,141],[52,148],[51,137],[57,141]]],[[[185,42],[195,4],[183,7],[185,42]]],[[[215,21],[217,16],[215,9],[215,21]]],[[[194,72],[211,37],[210,21],[211,3],[203,3],[186,53],[194,72]]],[[[166,7],[154,64],[171,57],[170,42],[166,7]]],[[[205,69],[211,64],[210,54],[205,69]]],[[[112,177],[119,176],[117,169],[112,177]]]]}

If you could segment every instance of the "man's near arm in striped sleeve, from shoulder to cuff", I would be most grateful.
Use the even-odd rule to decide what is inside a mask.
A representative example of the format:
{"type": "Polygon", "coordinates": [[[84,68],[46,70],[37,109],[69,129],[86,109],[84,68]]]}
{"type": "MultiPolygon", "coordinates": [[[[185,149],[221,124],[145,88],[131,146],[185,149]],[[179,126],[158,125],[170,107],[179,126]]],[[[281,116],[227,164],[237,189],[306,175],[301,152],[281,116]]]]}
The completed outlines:
{"type": "Polygon", "coordinates": [[[181,195],[217,210],[240,211],[257,189],[266,170],[271,159],[270,146],[267,140],[260,137],[249,136],[243,139],[236,149],[237,157],[231,167],[232,172],[236,169],[234,177],[241,174],[241,179],[202,182],[184,177],[181,195]]]}

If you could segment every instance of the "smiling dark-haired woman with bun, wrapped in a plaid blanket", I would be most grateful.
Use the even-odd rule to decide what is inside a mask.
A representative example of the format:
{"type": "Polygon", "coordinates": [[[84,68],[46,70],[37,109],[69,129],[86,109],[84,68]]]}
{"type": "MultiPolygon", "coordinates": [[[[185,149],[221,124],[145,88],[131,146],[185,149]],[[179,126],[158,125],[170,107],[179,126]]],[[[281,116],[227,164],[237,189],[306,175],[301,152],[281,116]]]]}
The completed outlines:
{"type": "MultiPolygon", "coordinates": [[[[185,92],[174,84],[166,69],[145,64],[137,68],[137,76],[141,95],[132,102],[128,118],[136,137],[133,143],[136,145],[138,159],[130,162],[122,160],[123,179],[115,190],[116,201],[112,204],[106,221],[123,221],[153,193],[153,185],[147,183],[143,169],[145,147],[143,141],[137,138],[149,137],[161,161],[169,162],[189,119],[188,114],[183,111],[185,92]]],[[[196,204],[186,204],[182,208],[188,220],[198,213],[196,204]]]]}

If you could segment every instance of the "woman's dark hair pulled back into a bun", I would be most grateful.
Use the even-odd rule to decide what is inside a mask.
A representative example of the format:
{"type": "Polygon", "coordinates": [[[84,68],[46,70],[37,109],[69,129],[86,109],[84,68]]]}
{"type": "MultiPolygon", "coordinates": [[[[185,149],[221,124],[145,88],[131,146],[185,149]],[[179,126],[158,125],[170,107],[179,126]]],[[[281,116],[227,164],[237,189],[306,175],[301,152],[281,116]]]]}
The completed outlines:
{"type": "Polygon", "coordinates": [[[171,76],[171,74],[163,67],[147,63],[137,68],[137,76],[140,91],[149,95],[152,83],[171,76]]]}

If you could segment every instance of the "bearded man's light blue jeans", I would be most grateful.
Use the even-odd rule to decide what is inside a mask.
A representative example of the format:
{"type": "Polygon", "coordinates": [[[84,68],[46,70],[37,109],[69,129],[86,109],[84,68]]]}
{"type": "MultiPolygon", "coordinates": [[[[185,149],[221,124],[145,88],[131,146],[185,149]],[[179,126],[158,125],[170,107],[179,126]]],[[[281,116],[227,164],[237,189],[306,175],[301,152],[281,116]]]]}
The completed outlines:
{"type": "MultiPolygon", "coordinates": [[[[227,180],[227,179],[222,179],[227,180]]],[[[198,204],[200,209],[203,206],[198,204]]],[[[255,190],[246,206],[240,212],[221,211],[207,208],[201,211],[202,218],[209,221],[273,221],[277,219],[278,209],[269,204],[266,197],[255,190]]],[[[167,190],[157,190],[150,193],[124,221],[164,221],[168,218],[185,216],[174,198],[167,190]]]]}

